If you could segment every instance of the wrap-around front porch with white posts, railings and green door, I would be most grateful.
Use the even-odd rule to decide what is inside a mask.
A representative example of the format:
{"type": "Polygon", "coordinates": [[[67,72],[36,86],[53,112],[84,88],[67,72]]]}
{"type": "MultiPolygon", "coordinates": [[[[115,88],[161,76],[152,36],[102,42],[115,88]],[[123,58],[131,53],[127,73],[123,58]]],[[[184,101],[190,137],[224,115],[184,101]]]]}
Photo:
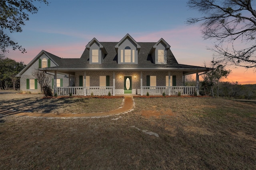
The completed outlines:
{"type": "Polygon", "coordinates": [[[193,95],[195,92],[199,94],[198,72],[196,73],[197,86],[184,86],[185,75],[182,72],[83,71],[75,73],[75,86],[57,87],[56,74],[57,72],[54,74],[54,94],[57,95],[106,96],[109,93],[112,96],[118,94],[143,96],[147,93],[149,95],[162,95],[163,93],[165,95],[178,95],[178,93],[193,95]],[[106,81],[102,82],[101,79],[104,76],[106,76],[106,81]]]}

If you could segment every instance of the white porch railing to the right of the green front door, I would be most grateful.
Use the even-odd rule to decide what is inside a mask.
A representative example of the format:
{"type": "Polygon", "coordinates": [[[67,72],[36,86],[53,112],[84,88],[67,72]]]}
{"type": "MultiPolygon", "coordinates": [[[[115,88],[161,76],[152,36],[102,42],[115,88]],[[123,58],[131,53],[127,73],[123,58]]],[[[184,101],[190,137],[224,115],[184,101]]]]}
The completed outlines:
{"type": "Polygon", "coordinates": [[[180,92],[181,95],[191,95],[196,91],[196,86],[143,86],[142,95],[146,95],[147,92],[150,95],[177,95],[180,92]]]}

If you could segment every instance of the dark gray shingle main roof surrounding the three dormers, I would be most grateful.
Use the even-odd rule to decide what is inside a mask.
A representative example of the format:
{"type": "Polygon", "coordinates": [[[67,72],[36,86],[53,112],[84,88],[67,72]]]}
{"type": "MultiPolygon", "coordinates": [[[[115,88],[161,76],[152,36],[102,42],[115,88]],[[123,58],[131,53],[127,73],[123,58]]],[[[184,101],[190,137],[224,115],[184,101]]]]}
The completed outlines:
{"type": "Polygon", "coordinates": [[[138,64],[118,64],[117,63],[117,53],[115,50],[115,45],[118,42],[100,42],[106,52],[108,53],[103,60],[102,64],[90,64],[89,63],[89,50],[85,49],[80,59],[61,59],[57,56],[51,55],[52,59],[56,59],[56,63],[58,66],[46,68],[46,70],[90,70],[90,69],[201,69],[206,70],[207,68],[200,66],[190,66],[184,64],[178,64],[172,51],[170,49],[167,50],[167,64],[154,64],[152,61],[152,57],[149,54],[152,47],[156,44],[156,42],[148,43],[148,42],[140,42],[138,43],[141,48],[138,53],[138,64]]]}

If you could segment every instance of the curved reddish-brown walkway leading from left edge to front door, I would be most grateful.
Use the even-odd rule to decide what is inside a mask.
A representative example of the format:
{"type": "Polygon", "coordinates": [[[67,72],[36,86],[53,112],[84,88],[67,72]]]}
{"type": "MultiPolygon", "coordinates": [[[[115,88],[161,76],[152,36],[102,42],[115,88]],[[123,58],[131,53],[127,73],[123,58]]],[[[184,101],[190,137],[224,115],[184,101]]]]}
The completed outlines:
{"type": "Polygon", "coordinates": [[[124,96],[124,106],[115,110],[111,110],[108,112],[100,112],[100,113],[81,113],[81,114],[56,114],[56,113],[33,113],[33,112],[20,112],[20,111],[12,111],[12,110],[2,110],[0,109],[0,118],[7,115],[16,115],[16,116],[31,116],[31,117],[42,117],[42,118],[86,118],[86,117],[107,117],[110,115],[116,115],[120,113],[127,113],[132,111],[134,106],[132,96],[124,96]]]}

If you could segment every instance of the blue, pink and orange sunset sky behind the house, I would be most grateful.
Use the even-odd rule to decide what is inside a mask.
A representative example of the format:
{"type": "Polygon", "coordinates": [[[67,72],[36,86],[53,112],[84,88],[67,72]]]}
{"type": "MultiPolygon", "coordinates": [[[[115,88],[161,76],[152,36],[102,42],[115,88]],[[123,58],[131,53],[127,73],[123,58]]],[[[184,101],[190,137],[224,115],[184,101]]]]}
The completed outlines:
{"type": "MultiPolygon", "coordinates": [[[[5,56],[28,64],[45,50],[61,58],[80,58],[94,37],[98,41],[120,41],[129,33],[137,42],[157,42],[163,38],[179,64],[204,66],[212,52],[206,47],[200,25],[186,25],[200,13],[189,10],[187,0],[48,0],[22,27],[22,33],[10,35],[27,53],[12,51],[5,56]]],[[[223,81],[256,84],[254,69],[230,67],[223,81]]]]}

